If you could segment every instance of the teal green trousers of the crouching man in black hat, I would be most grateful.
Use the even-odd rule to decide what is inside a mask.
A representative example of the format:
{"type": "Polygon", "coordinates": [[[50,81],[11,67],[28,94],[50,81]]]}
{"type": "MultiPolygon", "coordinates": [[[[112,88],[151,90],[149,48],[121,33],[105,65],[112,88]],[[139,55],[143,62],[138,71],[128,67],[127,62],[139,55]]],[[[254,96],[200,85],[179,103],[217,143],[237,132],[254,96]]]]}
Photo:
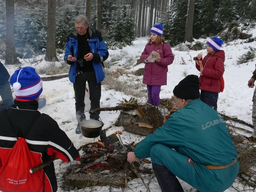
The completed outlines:
{"type": "Polygon", "coordinates": [[[207,169],[186,155],[163,144],[150,150],[153,164],[165,166],[171,173],[200,192],[223,192],[229,188],[239,172],[239,162],[226,169],[207,169]]]}

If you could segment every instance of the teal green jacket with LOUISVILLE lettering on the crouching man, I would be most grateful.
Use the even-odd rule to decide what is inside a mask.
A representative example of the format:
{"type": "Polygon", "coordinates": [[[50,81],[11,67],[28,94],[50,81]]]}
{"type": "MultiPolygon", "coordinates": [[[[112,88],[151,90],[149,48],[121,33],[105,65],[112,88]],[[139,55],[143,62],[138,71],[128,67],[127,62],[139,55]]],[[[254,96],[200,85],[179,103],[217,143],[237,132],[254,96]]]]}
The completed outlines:
{"type": "Polygon", "coordinates": [[[237,158],[225,121],[199,99],[187,103],[149,134],[135,148],[137,158],[150,157],[150,149],[161,143],[175,148],[202,165],[228,165],[237,158]]]}

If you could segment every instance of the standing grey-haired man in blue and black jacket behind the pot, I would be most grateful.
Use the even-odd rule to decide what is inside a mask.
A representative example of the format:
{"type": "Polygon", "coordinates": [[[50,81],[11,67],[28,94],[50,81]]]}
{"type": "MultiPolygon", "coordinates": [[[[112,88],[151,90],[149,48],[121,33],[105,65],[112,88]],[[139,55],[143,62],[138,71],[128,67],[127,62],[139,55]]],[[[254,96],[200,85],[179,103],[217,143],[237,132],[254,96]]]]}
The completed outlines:
{"type": "MultiPolygon", "coordinates": [[[[76,133],[80,134],[79,122],[85,119],[86,81],[90,91],[90,110],[99,108],[101,82],[105,78],[103,61],[108,59],[109,53],[101,33],[89,27],[86,16],[78,15],[75,18],[75,27],[76,31],[68,36],[64,60],[71,65],[68,76],[74,86],[76,118],[78,120],[76,133]]],[[[98,120],[99,112],[90,114],[90,118],[98,120]]]]}

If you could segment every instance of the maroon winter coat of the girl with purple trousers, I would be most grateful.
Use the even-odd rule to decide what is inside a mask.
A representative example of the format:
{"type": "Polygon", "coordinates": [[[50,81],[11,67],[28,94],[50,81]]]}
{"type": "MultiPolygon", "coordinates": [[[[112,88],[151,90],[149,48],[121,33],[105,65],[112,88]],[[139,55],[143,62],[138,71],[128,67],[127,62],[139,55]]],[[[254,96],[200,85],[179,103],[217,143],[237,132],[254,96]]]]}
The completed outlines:
{"type": "Polygon", "coordinates": [[[160,54],[160,61],[155,61],[154,63],[146,63],[143,74],[143,83],[147,85],[161,86],[167,84],[167,65],[173,63],[173,53],[169,44],[165,43],[163,45],[146,45],[140,60],[145,63],[145,60],[152,51],[156,51],[160,54]]]}

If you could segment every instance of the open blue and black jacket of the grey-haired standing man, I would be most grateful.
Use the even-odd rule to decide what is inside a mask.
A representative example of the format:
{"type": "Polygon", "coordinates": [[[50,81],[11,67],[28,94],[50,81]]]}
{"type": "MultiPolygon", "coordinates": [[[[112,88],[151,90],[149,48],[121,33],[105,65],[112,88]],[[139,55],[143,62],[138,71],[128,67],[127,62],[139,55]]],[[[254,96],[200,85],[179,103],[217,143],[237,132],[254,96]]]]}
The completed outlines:
{"type": "MultiPolygon", "coordinates": [[[[89,45],[91,48],[91,53],[93,53],[93,68],[95,71],[97,83],[100,83],[102,82],[102,80],[105,78],[105,75],[106,75],[102,61],[105,61],[106,59],[108,59],[109,53],[106,48],[104,39],[101,36],[101,33],[98,30],[91,29],[90,27],[88,27],[87,30],[90,36],[89,45]]],[[[66,43],[65,55],[64,55],[65,62],[71,65],[69,69],[68,77],[72,83],[75,83],[76,81],[77,60],[74,62],[67,61],[67,57],[69,54],[71,54],[76,59],[78,57],[77,36],[78,36],[77,31],[74,31],[73,33],[69,34],[68,40],[66,43]]]]}

